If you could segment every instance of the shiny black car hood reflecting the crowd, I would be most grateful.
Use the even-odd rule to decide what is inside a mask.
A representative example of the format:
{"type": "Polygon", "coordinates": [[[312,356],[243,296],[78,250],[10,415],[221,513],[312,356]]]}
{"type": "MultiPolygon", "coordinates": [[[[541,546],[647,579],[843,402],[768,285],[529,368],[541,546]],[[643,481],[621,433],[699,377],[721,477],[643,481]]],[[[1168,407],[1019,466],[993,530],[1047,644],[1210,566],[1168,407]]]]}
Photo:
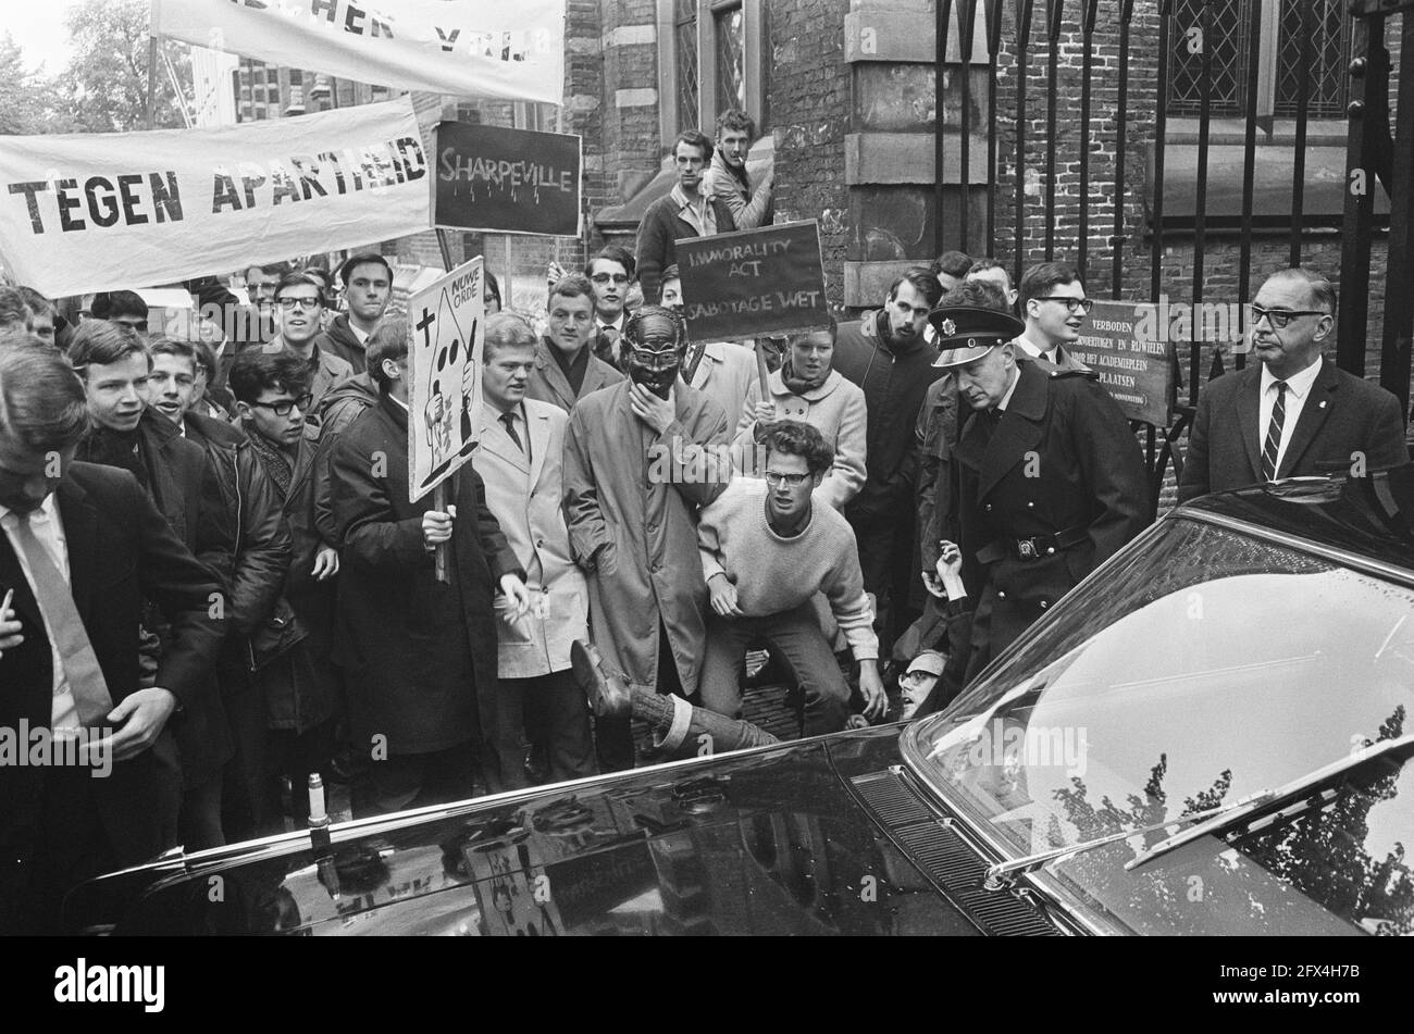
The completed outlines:
{"type": "Polygon", "coordinates": [[[896,726],[291,833],[102,877],[115,934],[977,934],[854,788],[896,726]],[[321,857],[322,855],[322,857],[321,857]]]}

